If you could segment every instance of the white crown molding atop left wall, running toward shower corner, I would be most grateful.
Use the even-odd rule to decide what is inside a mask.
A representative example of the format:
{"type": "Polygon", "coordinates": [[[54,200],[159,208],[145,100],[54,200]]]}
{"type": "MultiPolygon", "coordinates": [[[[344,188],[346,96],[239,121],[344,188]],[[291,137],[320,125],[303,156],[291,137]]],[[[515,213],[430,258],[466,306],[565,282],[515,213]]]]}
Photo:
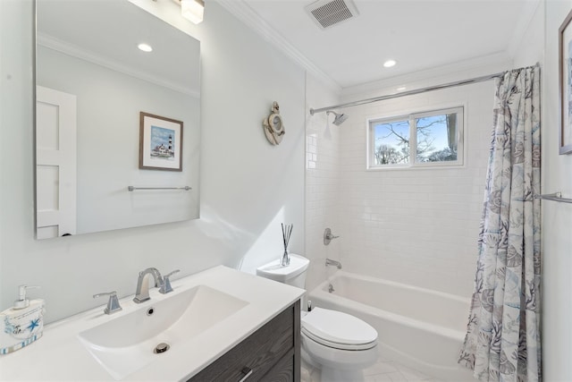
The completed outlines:
{"type": "Polygon", "coordinates": [[[336,93],[341,93],[341,86],[336,81],[333,81],[332,77],[308,60],[305,55],[302,55],[296,47],[293,47],[290,42],[274,30],[268,22],[262,19],[258,13],[254,12],[243,0],[217,0],[217,3],[221,4],[228,12],[246,24],[248,28],[256,31],[262,38],[265,38],[266,41],[271,42],[295,63],[313,75],[318,81],[321,81],[328,89],[336,93]]]}

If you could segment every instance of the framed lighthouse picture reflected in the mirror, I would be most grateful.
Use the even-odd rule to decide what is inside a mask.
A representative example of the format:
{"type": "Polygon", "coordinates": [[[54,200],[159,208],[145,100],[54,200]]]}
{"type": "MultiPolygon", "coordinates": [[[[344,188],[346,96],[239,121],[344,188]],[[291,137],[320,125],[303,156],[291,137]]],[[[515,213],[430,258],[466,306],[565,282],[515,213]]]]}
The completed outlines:
{"type": "Polygon", "coordinates": [[[139,113],[139,168],[182,171],[182,122],[139,113]]]}

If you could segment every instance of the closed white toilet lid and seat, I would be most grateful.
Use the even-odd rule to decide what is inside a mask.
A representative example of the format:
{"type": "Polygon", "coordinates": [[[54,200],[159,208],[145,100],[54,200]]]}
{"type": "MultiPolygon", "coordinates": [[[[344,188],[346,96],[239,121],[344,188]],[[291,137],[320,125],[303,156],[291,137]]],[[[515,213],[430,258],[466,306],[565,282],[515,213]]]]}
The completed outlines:
{"type": "Polygon", "coordinates": [[[337,310],[314,308],[301,318],[302,333],[336,349],[360,350],[375,346],[377,331],[361,319],[337,310]]]}

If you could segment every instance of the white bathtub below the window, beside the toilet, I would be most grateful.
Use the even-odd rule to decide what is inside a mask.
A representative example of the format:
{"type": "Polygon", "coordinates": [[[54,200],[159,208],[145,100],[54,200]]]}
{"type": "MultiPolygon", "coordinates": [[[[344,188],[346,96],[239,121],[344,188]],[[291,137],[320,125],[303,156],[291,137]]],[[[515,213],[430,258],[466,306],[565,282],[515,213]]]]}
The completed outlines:
{"type": "Polygon", "coordinates": [[[383,359],[443,381],[475,380],[457,363],[469,299],[345,271],[307,298],[313,306],[344,311],[374,327],[383,359]]]}

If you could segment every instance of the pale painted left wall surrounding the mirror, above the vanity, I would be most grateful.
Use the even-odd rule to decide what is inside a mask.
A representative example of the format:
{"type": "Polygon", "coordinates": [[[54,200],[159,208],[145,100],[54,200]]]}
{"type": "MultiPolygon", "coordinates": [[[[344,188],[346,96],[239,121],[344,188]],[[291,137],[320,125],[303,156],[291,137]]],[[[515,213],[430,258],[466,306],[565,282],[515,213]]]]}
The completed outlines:
{"type": "Polygon", "coordinates": [[[42,286],[29,294],[46,299],[49,322],[103,305],[93,293],[134,293],[146,267],[253,271],[282,253],[281,222],[294,224],[290,248],[303,252],[304,72],[216,2],[192,29],[202,55],[201,218],[34,240],[32,21],[30,1],[0,1],[1,309],[18,284],[42,286]],[[262,130],[274,100],[286,125],[279,147],[262,130]]]}

